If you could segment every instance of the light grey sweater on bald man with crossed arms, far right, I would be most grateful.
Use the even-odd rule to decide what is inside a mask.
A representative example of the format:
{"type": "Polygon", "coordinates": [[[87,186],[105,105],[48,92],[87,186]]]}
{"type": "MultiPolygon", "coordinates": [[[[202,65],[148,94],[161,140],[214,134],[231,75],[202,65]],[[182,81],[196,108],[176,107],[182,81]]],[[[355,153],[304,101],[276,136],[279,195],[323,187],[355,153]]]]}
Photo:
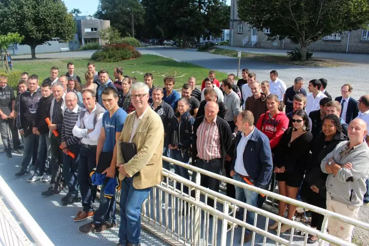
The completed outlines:
{"type": "Polygon", "coordinates": [[[354,147],[341,158],[340,153],[347,149],[349,141],[343,141],[330,152],[321,163],[324,173],[329,159],[339,165],[352,164],[352,169],[341,168],[337,175],[329,174],[326,182],[327,196],[332,200],[346,205],[363,205],[364,194],[367,191],[365,181],[369,175],[369,147],[366,142],[354,147]]]}

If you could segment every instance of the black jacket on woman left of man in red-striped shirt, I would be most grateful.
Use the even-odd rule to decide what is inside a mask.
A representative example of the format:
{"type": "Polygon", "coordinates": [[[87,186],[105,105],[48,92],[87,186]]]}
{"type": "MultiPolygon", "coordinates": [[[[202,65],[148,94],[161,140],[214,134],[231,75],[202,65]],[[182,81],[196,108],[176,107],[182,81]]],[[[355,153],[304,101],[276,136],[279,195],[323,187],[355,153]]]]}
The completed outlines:
{"type": "MultiPolygon", "coordinates": [[[[171,107],[170,107],[171,108],[171,107]]],[[[181,116],[181,122],[179,123],[177,118],[180,114],[177,113],[170,119],[170,124],[166,132],[166,141],[168,145],[177,145],[178,150],[189,150],[192,144],[193,136],[193,125],[195,119],[186,112],[181,116]],[[173,137],[173,134],[176,136],[173,137]],[[178,139],[178,143],[173,143],[173,139],[178,139]]],[[[174,147],[174,146],[173,146],[174,147]]]]}

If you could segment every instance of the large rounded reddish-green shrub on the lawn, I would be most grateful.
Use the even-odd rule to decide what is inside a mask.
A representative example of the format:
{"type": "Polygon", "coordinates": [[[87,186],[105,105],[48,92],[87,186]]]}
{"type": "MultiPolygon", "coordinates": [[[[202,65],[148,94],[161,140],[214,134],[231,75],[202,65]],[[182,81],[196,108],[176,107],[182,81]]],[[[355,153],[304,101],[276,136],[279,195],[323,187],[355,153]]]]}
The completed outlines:
{"type": "Polygon", "coordinates": [[[141,57],[133,46],[127,43],[109,44],[92,54],[91,59],[98,62],[118,62],[141,57]]]}

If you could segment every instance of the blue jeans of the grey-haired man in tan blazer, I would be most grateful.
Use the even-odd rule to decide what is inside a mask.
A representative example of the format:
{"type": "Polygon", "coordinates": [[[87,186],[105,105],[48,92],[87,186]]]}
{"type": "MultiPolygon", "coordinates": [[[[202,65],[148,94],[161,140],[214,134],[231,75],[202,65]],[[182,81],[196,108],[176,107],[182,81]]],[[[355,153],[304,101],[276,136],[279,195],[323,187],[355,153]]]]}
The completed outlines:
{"type": "Polygon", "coordinates": [[[119,243],[126,246],[128,243],[138,245],[141,234],[141,205],[149,195],[151,187],[138,190],[133,187],[133,178],[125,177],[122,180],[121,226],[119,228],[119,243]]]}

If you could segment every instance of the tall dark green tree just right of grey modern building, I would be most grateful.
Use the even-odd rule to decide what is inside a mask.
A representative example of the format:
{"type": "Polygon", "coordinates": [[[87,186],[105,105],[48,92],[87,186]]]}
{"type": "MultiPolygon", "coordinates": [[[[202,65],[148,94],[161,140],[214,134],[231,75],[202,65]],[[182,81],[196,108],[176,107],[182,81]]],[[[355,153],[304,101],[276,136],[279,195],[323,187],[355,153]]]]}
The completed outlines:
{"type": "Polygon", "coordinates": [[[142,30],[144,23],[144,9],[139,0],[99,0],[97,11],[94,14],[96,18],[110,20],[110,25],[116,28],[122,36],[132,36],[132,13],[133,27],[136,30],[142,30]]]}

